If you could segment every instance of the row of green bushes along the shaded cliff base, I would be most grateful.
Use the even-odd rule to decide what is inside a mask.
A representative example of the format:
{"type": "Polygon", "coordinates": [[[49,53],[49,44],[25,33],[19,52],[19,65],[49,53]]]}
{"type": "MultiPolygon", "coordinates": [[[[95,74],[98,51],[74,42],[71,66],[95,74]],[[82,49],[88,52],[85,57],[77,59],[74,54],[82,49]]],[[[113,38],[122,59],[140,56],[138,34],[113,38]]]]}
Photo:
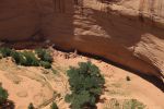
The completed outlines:
{"type": "Polygon", "coordinates": [[[50,69],[52,57],[47,49],[36,49],[33,51],[16,51],[10,48],[0,48],[0,57],[12,57],[14,62],[25,66],[44,66],[50,69]]]}

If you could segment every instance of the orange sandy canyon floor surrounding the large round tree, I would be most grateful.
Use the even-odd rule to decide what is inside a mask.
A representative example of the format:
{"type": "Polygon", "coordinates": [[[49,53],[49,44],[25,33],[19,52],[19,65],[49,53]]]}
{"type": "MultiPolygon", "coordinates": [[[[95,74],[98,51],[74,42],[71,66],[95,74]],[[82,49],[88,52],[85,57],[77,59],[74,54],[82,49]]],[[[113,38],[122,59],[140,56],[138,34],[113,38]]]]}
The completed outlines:
{"type": "Polygon", "coordinates": [[[69,109],[65,96],[70,92],[66,74],[70,65],[91,61],[96,64],[105,77],[105,90],[97,109],[113,109],[112,99],[138,99],[147,106],[145,109],[164,109],[164,93],[142,77],[107,62],[75,55],[52,50],[55,72],[40,66],[21,66],[11,58],[0,59],[0,82],[9,93],[9,99],[15,104],[15,109],[27,109],[33,102],[38,109],[49,109],[56,101],[59,109],[69,109]],[[127,76],[130,81],[127,81],[127,76]]]}

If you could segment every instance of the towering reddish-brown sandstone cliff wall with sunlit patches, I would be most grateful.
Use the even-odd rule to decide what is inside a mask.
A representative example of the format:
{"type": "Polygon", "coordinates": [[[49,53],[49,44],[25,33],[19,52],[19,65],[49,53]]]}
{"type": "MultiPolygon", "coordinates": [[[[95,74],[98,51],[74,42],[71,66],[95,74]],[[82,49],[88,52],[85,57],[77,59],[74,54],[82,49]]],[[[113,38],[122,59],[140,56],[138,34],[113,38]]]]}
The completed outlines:
{"type": "Polygon", "coordinates": [[[16,3],[9,0],[0,3],[8,5],[2,7],[1,13],[11,17],[8,21],[5,14],[0,15],[3,17],[0,25],[7,26],[0,27],[1,39],[12,38],[11,35],[16,40],[26,39],[39,29],[63,49],[98,55],[133,70],[164,77],[163,0],[16,1],[22,2],[19,4],[22,13],[19,7],[9,10],[9,5],[16,3]],[[23,17],[19,17],[19,12],[23,17]]]}

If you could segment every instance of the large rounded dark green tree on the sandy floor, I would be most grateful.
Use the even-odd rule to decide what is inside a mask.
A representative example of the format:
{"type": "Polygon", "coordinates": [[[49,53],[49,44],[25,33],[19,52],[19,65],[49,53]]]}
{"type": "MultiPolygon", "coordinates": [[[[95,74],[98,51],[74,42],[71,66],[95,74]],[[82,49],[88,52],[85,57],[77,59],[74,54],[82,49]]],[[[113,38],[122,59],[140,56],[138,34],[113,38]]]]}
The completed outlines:
{"type": "Polygon", "coordinates": [[[72,93],[66,96],[66,101],[71,102],[72,109],[93,109],[103,93],[105,80],[99,69],[91,62],[81,62],[79,65],[67,71],[72,93]]]}

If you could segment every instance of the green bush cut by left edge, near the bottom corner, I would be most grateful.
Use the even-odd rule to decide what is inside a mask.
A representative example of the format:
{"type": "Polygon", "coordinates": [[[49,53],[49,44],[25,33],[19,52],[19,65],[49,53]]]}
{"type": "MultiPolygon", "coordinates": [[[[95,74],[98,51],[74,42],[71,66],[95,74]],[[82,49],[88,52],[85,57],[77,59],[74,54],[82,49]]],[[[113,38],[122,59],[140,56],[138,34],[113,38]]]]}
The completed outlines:
{"type": "Polygon", "coordinates": [[[0,86],[0,106],[7,101],[8,96],[8,92],[2,86],[0,86]]]}

